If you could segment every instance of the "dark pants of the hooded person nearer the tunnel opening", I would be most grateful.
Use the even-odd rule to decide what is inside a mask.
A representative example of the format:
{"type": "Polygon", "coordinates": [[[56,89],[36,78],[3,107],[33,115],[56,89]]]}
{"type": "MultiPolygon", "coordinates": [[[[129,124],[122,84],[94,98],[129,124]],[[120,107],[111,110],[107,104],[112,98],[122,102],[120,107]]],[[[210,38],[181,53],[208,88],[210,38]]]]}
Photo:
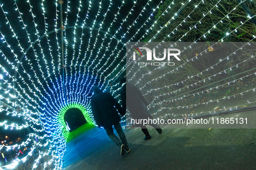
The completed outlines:
{"type": "Polygon", "coordinates": [[[114,134],[112,127],[108,127],[108,128],[105,129],[106,132],[107,132],[108,137],[109,137],[117,146],[120,147],[122,144],[124,144],[125,149],[126,149],[126,150],[129,149],[128,144],[127,144],[127,141],[126,141],[126,137],[125,137],[125,135],[124,135],[124,133],[123,133],[123,129],[122,129],[120,123],[115,124],[114,127],[115,127],[115,129],[116,129],[116,131],[117,131],[117,133],[118,133],[118,135],[119,135],[119,137],[120,137],[120,140],[121,140],[122,142],[120,142],[120,140],[119,140],[119,139],[117,138],[117,136],[114,134]]]}

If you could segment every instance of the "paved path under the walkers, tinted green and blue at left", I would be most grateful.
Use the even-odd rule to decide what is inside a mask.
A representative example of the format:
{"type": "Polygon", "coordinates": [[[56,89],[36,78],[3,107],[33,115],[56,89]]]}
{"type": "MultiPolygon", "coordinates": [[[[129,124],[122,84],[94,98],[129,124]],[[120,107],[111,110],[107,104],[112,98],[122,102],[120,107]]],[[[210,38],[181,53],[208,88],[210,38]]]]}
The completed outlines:
{"type": "MultiPolygon", "coordinates": [[[[243,96],[246,101],[255,101],[254,94],[248,95],[243,96]]],[[[229,102],[243,102],[242,98],[235,99],[238,101],[229,102]]],[[[216,104],[222,107],[228,102],[216,104]]],[[[251,124],[256,124],[256,111],[214,118],[236,116],[247,117],[251,124]]],[[[204,129],[192,129],[198,125],[191,125],[191,129],[169,129],[171,126],[161,125],[161,135],[149,129],[152,139],[147,141],[140,129],[124,129],[131,152],[121,157],[119,148],[104,129],[85,124],[70,133],[63,167],[65,170],[256,170],[256,129],[215,129],[211,124],[204,129]]]]}

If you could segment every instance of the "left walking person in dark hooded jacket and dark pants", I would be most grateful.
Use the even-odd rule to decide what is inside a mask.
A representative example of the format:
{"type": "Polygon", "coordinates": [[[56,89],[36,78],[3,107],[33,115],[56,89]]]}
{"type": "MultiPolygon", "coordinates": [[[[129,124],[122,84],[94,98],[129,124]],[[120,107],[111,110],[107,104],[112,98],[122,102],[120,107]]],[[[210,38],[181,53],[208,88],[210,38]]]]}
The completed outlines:
{"type": "Polygon", "coordinates": [[[99,86],[95,85],[93,87],[94,96],[91,98],[91,110],[94,116],[94,120],[97,125],[102,126],[109,138],[120,147],[121,156],[130,152],[130,148],[128,147],[126,137],[123,133],[123,129],[120,125],[120,116],[117,112],[121,113],[122,107],[117,102],[117,100],[109,93],[102,92],[99,86]],[[116,107],[116,108],[115,108],[116,107]],[[120,139],[113,133],[113,128],[115,127],[120,139]]]}

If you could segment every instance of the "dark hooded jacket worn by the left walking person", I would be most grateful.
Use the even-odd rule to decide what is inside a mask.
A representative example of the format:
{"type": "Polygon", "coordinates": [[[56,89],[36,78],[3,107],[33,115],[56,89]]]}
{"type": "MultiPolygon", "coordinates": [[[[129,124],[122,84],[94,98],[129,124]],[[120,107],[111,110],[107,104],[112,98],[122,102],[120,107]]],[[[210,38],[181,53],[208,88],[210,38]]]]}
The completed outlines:
{"type": "Polygon", "coordinates": [[[98,86],[94,86],[93,92],[91,110],[97,125],[107,128],[120,123],[117,110],[121,113],[122,108],[117,100],[109,92],[102,92],[98,86]]]}

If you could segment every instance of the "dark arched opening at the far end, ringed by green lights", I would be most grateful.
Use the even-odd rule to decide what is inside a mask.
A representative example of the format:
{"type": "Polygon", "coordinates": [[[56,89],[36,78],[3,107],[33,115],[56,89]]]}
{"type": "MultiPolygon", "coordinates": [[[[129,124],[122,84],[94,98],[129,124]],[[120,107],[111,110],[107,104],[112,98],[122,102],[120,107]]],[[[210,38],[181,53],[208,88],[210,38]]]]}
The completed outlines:
{"type": "Polygon", "coordinates": [[[64,114],[64,121],[69,127],[69,132],[87,123],[81,110],[70,108],[64,114]]]}

